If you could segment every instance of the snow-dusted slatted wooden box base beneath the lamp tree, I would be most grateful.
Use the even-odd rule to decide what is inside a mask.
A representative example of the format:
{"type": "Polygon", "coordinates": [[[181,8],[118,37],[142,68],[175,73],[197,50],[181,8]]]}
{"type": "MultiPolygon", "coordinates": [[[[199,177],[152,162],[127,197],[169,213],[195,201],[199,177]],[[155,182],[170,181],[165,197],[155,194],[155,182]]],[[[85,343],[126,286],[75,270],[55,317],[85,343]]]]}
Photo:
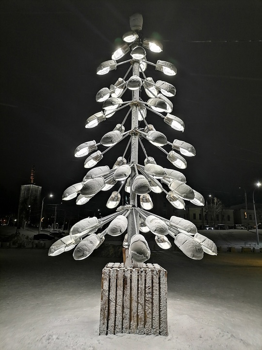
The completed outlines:
{"type": "Polygon", "coordinates": [[[103,269],[99,334],[115,333],[167,335],[166,271],[158,264],[103,269]]]}

